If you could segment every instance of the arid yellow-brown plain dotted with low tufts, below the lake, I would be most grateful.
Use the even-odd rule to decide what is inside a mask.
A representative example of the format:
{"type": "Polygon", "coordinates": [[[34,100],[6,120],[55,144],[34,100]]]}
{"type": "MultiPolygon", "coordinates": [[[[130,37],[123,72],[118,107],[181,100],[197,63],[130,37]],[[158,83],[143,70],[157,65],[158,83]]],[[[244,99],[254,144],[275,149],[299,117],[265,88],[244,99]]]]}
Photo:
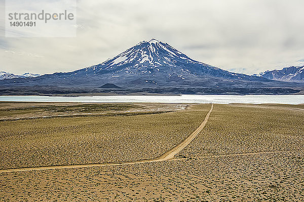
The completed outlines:
{"type": "Polygon", "coordinates": [[[2,102],[0,201],[303,201],[304,105],[212,106],[2,102]]]}

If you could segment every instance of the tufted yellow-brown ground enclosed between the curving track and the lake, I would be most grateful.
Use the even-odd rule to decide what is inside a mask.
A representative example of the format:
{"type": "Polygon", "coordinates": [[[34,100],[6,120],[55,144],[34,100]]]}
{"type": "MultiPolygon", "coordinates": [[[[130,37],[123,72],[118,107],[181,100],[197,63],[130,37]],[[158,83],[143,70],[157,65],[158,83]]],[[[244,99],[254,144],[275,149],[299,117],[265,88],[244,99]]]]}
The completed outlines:
{"type": "MultiPolygon", "coordinates": [[[[129,109],[102,116],[53,117],[0,122],[0,168],[123,162],[156,158],[180,143],[206,116],[200,110],[173,111],[177,105],[104,105],[129,109]],[[130,110],[133,108],[133,110],[130,110]]],[[[106,109],[102,105],[91,107],[106,109]]],[[[179,105],[180,106],[180,105],[179,105]]],[[[87,106],[85,106],[87,107],[87,106]]],[[[53,108],[51,106],[50,108],[53,108]]],[[[83,108],[83,105],[60,109],[83,108]]],[[[48,108],[47,108],[48,109],[48,108]]],[[[206,113],[203,113],[204,110],[206,113]]],[[[116,112],[117,112],[116,111],[116,112]]]]}

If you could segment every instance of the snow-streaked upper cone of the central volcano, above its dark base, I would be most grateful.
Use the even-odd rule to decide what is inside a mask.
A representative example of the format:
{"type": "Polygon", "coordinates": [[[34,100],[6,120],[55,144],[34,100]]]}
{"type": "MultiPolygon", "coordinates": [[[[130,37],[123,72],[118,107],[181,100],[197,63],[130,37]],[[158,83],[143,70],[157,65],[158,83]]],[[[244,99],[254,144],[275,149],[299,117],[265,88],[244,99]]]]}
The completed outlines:
{"type": "Polygon", "coordinates": [[[156,39],[141,41],[118,56],[103,63],[73,74],[108,75],[118,83],[124,79],[130,84],[155,84],[179,82],[195,84],[200,76],[223,77],[229,79],[249,79],[255,77],[235,74],[195,61],[177,51],[168,43],[156,39]],[[135,77],[137,75],[137,77],[135,77]],[[131,78],[132,77],[132,78],[131,78]]]}

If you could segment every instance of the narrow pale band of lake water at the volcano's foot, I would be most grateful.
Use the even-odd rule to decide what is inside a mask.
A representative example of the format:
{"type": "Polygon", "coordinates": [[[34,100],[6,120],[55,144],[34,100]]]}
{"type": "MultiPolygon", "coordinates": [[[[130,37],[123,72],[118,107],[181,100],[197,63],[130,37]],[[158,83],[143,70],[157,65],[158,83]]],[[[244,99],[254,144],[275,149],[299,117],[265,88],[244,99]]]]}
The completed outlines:
{"type": "Polygon", "coordinates": [[[304,104],[304,95],[104,95],[104,96],[0,96],[11,102],[76,102],[76,103],[247,103],[304,104]]]}

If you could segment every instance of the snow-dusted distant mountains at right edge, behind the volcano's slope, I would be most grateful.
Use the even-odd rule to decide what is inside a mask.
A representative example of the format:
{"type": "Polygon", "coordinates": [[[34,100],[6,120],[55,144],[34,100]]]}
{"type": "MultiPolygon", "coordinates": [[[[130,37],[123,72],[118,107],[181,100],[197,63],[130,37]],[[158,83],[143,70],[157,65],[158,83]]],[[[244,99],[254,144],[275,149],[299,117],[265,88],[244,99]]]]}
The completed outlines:
{"type": "Polygon", "coordinates": [[[253,76],[259,76],[279,81],[304,81],[304,66],[302,67],[286,67],[282,70],[265,71],[253,76]]]}

